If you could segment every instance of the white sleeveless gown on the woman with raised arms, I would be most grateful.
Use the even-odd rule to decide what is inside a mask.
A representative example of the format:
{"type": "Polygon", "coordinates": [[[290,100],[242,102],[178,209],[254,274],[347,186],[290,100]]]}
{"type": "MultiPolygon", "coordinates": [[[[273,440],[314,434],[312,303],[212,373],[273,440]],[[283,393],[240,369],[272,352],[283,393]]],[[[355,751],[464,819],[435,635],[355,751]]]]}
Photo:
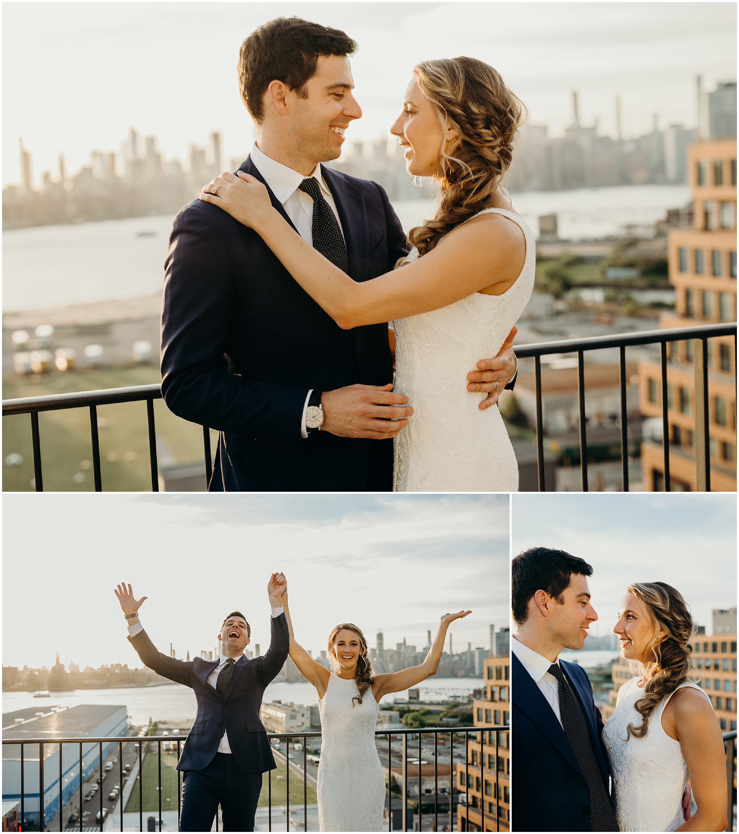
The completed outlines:
{"type": "Polygon", "coordinates": [[[332,673],[323,698],[318,766],[320,831],[382,831],[385,776],[375,747],[380,706],[371,688],[362,703],[355,681],[332,673]]]}

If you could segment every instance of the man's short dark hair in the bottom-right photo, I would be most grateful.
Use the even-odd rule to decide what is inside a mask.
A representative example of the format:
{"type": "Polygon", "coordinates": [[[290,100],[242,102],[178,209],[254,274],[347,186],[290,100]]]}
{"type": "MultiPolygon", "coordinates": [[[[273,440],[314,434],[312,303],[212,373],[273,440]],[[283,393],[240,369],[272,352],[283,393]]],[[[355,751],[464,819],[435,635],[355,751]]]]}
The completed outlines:
{"type": "Polygon", "coordinates": [[[513,619],[523,625],[529,615],[529,600],[537,590],[545,590],[560,605],[562,594],[572,574],[591,576],[593,569],[586,560],[564,550],[530,547],[515,557],[510,565],[510,597],[513,619]]]}

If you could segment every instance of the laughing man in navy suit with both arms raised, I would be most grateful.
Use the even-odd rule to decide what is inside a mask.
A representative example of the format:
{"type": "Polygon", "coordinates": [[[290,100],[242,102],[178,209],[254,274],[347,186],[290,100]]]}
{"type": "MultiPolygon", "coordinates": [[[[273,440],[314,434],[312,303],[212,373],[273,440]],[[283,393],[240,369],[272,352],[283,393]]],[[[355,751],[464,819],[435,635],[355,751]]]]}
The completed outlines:
{"type": "Polygon", "coordinates": [[[259,707],[289,651],[281,600],[285,585],[274,584],[277,576],[271,575],[267,585],[272,608],[269,650],[253,660],[244,656],[251,629],[240,611],[232,611],[221,625],[219,658],[178,661],[158,652],[143,631],[138,609],[146,597],[137,600],[125,583],[115,590],[126,615],[128,640],[144,665],[189,686],[198,700],[198,715],[177,763],[183,771],[180,831],[210,831],[219,803],[224,831],[254,831],[262,774],[276,767],[259,707]]]}

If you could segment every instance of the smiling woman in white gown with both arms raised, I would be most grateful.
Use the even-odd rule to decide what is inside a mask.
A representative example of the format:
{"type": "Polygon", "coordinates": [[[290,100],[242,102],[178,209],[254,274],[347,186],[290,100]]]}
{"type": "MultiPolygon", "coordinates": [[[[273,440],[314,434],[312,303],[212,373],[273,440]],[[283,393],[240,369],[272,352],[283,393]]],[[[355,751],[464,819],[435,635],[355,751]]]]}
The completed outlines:
{"type": "MultiPolygon", "coordinates": [[[[275,585],[286,585],[284,575],[275,585]]],[[[439,631],[420,666],[375,675],[367,657],[367,641],[356,625],[342,623],[331,631],[328,655],[334,671],[329,672],[295,641],[287,588],[282,605],[289,627],[290,658],[319,696],[319,830],[382,831],[385,776],[375,747],[380,700],[435,675],[450,622],[471,612],[441,617],[439,631]]]]}

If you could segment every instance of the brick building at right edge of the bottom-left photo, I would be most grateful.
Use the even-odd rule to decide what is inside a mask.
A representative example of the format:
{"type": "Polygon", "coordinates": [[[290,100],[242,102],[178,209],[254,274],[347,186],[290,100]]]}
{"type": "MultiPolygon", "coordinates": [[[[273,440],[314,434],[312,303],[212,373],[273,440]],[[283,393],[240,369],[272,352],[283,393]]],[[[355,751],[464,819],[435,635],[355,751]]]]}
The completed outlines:
{"type": "Polygon", "coordinates": [[[472,704],[479,731],[470,736],[469,764],[455,766],[457,790],[467,795],[466,804],[457,806],[457,826],[459,831],[509,831],[510,655],[485,658],[483,677],[485,701],[472,704]]]}

